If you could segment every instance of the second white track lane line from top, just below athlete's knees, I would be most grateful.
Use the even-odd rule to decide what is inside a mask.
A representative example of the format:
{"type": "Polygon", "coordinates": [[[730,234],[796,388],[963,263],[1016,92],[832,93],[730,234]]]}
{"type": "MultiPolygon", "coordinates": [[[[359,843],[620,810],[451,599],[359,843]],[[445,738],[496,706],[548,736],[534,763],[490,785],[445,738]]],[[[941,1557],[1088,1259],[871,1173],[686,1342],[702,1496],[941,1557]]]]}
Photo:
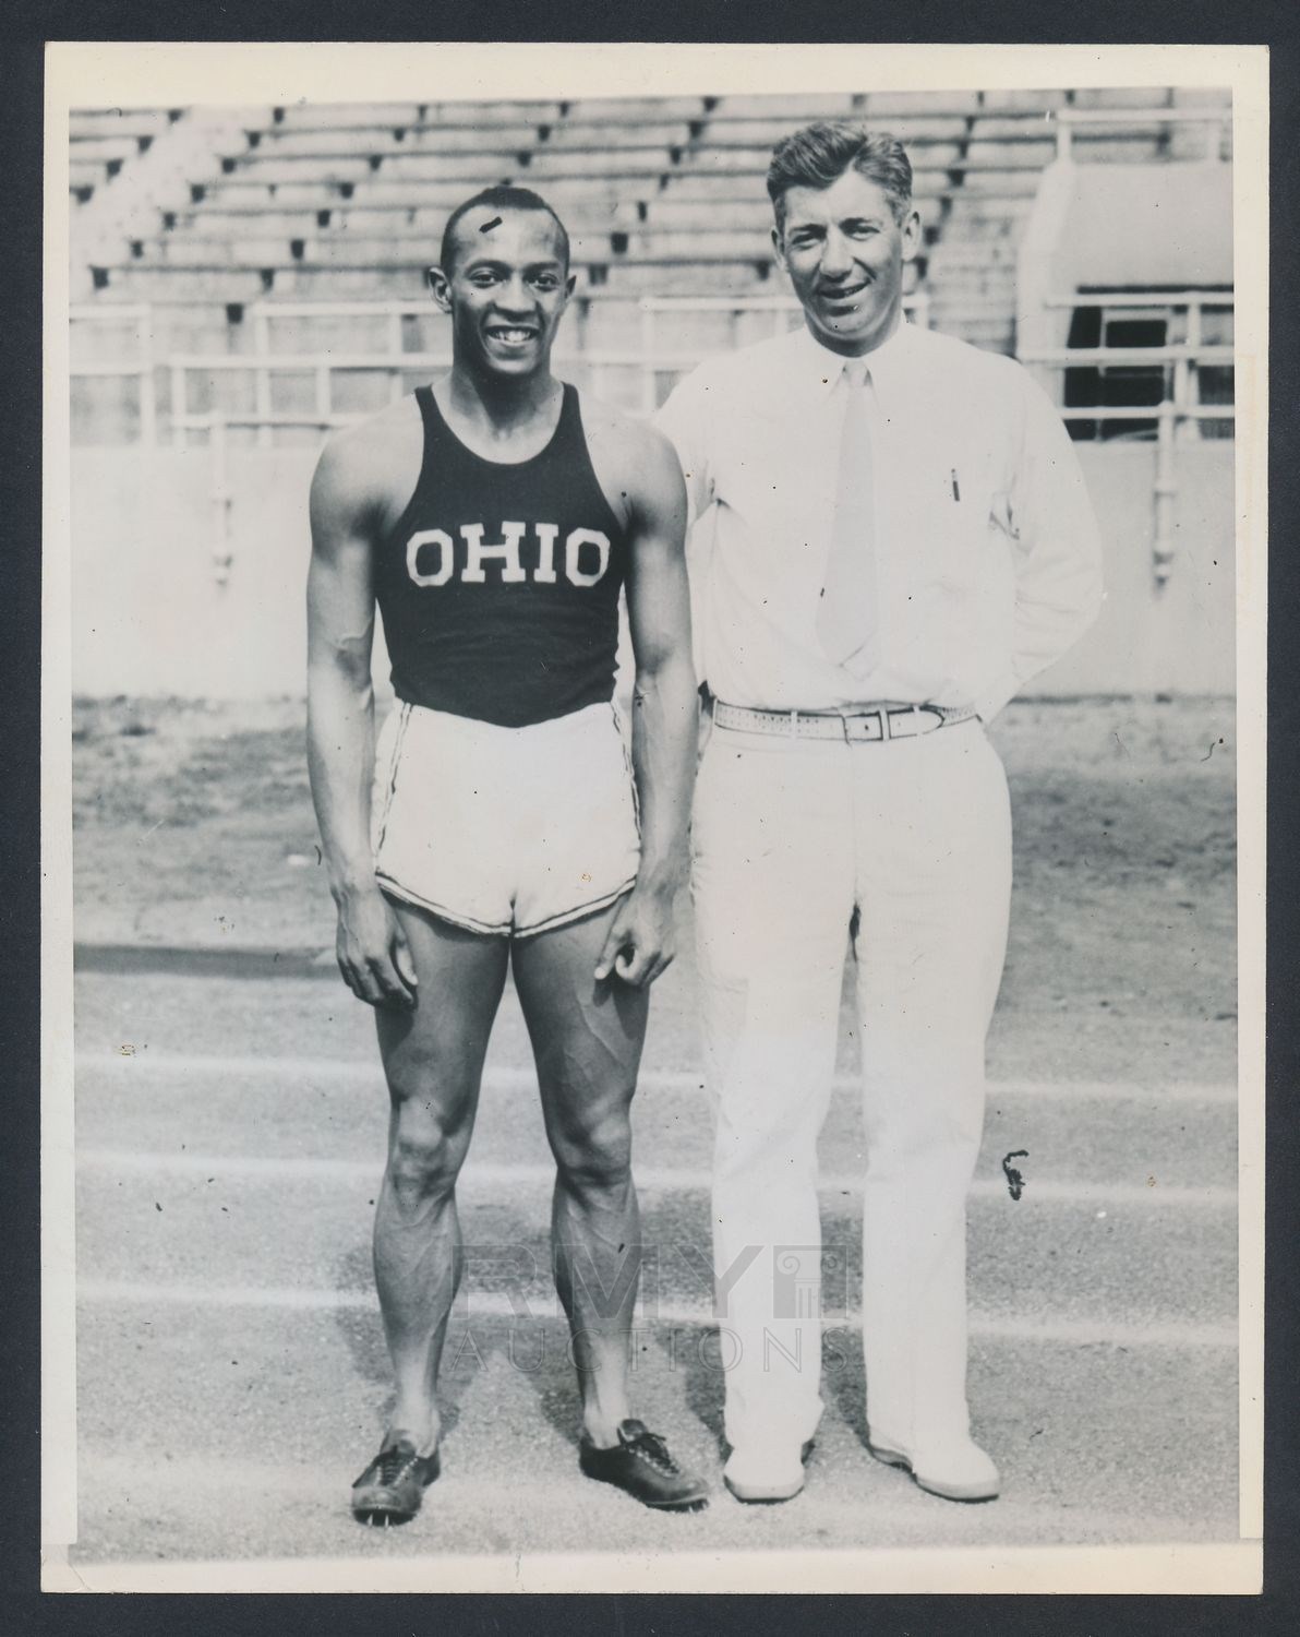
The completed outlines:
{"type": "MultiPolygon", "coordinates": [[[[90,1148],[77,1152],[78,1170],[108,1170],[118,1175],[147,1177],[244,1177],[250,1180],[312,1180],[347,1182],[356,1187],[374,1187],[383,1175],[383,1161],[324,1159],[317,1156],[285,1157],[265,1154],[157,1154],[137,1149],[90,1148]]],[[[509,1200],[513,1190],[546,1190],[554,1185],[554,1167],[530,1162],[466,1161],[458,1182],[464,1195],[494,1193],[509,1200]]],[[[638,1166],[636,1185],[643,1193],[706,1193],[711,1185],[708,1170],[672,1166],[638,1166]]],[[[857,1198],[862,1193],[862,1177],[855,1172],[823,1175],[819,1192],[829,1197],[857,1198]]],[[[971,1185],[971,1198],[1006,1198],[1007,1185],[997,1179],[981,1179],[971,1185]]],[[[1122,1206],[1204,1206],[1230,1211],[1236,1208],[1236,1190],[1223,1187],[1143,1187],[1123,1182],[1030,1182],[1015,1203],[1040,1202],[1043,1205],[1114,1205],[1122,1206]]]]}

